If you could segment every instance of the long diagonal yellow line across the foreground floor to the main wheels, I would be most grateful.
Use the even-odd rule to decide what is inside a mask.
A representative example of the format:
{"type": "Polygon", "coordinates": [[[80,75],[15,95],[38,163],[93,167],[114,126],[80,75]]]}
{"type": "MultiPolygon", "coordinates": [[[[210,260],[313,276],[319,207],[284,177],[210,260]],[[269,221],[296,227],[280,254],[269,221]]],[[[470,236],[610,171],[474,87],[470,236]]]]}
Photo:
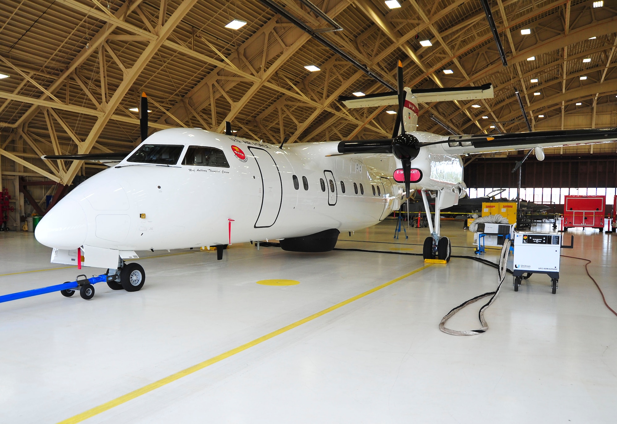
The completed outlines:
{"type": "Polygon", "coordinates": [[[285,333],[286,331],[292,330],[292,328],[296,328],[297,326],[300,326],[304,323],[307,323],[311,320],[314,320],[315,318],[321,317],[322,315],[328,314],[328,312],[332,312],[333,310],[339,309],[341,306],[345,306],[347,304],[350,304],[351,302],[357,301],[358,299],[362,299],[362,297],[368,296],[371,293],[375,293],[378,290],[383,289],[384,287],[390,286],[394,283],[396,283],[397,281],[402,280],[403,278],[407,278],[410,275],[413,275],[417,272],[420,272],[421,270],[424,270],[428,267],[433,266],[433,264],[428,264],[428,265],[424,265],[423,267],[420,267],[416,270],[413,270],[412,272],[408,272],[405,275],[401,275],[398,278],[394,278],[394,280],[388,281],[387,283],[383,283],[382,285],[376,286],[370,290],[365,291],[364,293],[360,293],[357,296],[354,297],[350,297],[349,299],[347,299],[346,301],[342,301],[340,303],[337,303],[334,306],[331,306],[329,308],[326,308],[324,310],[321,310],[320,312],[317,312],[316,314],[310,315],[309,317],[306,318],[302,318],[299,321],[296,321],[294,323],[291,323],[289,325],[284,326],[283,328],[279,328],[278,330],[272,331],[271,333],[268,333],[265,336],[261,336],[260,338],[254,339],[253,341],[249,341],[249,343],[245,343],[242,344],[241,346],[235,347],[234,349],[231,349],[231,351],[227,351],[223,354],[217,355],[215,357],[212,357],[210,359],[204,360],[204,362],[200,362],[197,365],[193,365],[193,367],[189,367],[186,368],[180,372],[177,372],[175,374],[172,374],[170,376],[167,376],[165,378],[162,378],[158,381],[154,381],[154,383],[150,383],[147,386],[143,386],[142,388],[136,389],[130,393],[126,393],[123,396],[117,397],[115,399],[113,399],[112,401],[106,402],[102,405],[98,405],[92,409],[88,409],[85,412],[82,412],[81,414],[78,415],[74,415],[73,417],[67,418],[64,421],[60,421],[58,424],[74,424],[74,423],[80,423],[83,420],[87,420],[88,418],[94,417],[95,415],[101,414],[101,412],[105,412],[106,410],[112,409],[114,407],[117,407],[118,405],[122,405],[125,402],[131,401],[132,399],[135,399],[136,397],[139,397],[143,394],[146,394],[148,392],[153,391],[154,389],[158,389],[162,386],[168,385],[169,383],[172,383],[173,381],[179,380],[182,377],[185,377],[187,375],[193,374],[194,372],[197,372],[199,370],[202,370],[205,367],[209,367],[212,364],[216,364],[217,362],[222,361],[223,359],[226,359],[230,356],[233,356],[239,352],[242,351],[246,351],[246,349],[249,349],[249,347],[253,347],[257,344],[262,343],[263,341],[266,341],[268,339],[271,339],[275,336],[281,335],[283,333],[285,333]]]}

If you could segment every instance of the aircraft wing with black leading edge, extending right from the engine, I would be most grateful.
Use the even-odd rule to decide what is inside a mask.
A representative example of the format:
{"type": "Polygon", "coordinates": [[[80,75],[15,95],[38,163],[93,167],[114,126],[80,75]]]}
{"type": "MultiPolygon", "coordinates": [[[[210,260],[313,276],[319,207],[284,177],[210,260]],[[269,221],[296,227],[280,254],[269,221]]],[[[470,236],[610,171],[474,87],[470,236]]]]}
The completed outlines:
{"type": "Polygon", "coordinates": [[[617,128],[450,136],[447,143],[442,145],[445,150],[456,154],[470,154],[533,149],[536,147],[549,148],[572,144],[609,143],[612,141],[617,141],[617,128]]]}

